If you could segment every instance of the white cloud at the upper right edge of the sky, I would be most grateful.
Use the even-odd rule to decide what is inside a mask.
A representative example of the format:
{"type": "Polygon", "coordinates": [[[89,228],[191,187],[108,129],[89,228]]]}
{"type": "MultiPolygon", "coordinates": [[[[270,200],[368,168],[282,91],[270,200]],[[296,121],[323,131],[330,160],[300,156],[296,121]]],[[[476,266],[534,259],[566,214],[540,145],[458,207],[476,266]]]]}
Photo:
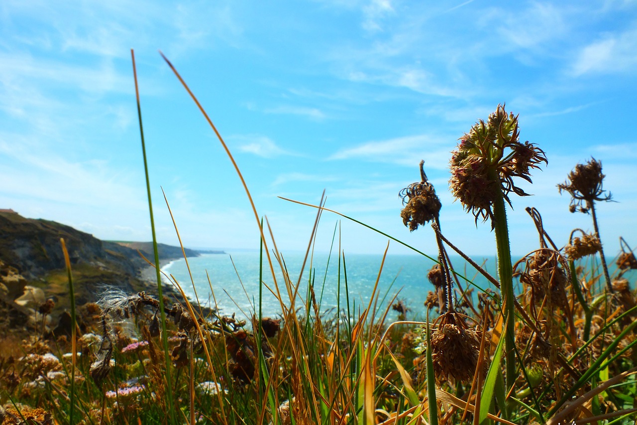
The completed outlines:
{"type": "Polygon", "coordinates": [[[637,29],[608,34],[580,50],[571,74],[624,73],[637,69],[637,29]]]}

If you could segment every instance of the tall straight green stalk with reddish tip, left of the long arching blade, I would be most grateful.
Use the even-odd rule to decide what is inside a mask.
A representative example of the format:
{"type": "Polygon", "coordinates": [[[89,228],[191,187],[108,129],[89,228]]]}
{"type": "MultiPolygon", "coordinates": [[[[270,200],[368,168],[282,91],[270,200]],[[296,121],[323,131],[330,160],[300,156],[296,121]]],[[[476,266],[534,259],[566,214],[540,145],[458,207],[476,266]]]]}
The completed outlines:
{"type": "Polygon", "coordinates": [[[132,58],[132,73],[135,80],[135,95],[137,101],[137,117],[140,122],[140,137],[141,137],[141,153],[144,158],[144,174],[146,176],[146,191],[148,195],[148,213],[150,214],[150,230],[153,235],[153,253],[155,255],[155,271],[157,272],[157,295],[159,297],[159,312],[161,316],[161,339],[164,346],[164,360],[166,361],[166,396],[168,398],[168,410],[170,412],[171,422],[173,424],[178,423],[175,415],[175,403],[173,402],[173,385],[171,382],[170,368],[172,362],[170,359],[170,352],[168,350],[168,332],[166,331],[166,309],[164,308],[164,295],[162,295],[161,287],[161,274],[159,270],[159,253],[157,252],[157,235],[155,235],[155,219],[153,217],[153,202],[150,196],[150,177],[148,177],[148,160],[146,158],[146,144],[144,141],[144,128],[141,123],[141,103],[140,103],[140,90],[137,83],[137,68],[135,67],[135,54],[131,49],[132,58]]]}

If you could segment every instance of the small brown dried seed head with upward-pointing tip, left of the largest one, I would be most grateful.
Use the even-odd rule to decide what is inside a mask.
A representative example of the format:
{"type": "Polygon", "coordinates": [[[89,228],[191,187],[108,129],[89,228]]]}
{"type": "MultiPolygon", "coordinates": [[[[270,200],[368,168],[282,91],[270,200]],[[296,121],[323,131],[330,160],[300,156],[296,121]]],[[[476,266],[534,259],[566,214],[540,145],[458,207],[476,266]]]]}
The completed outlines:
{"type": "Polygon", "coordinates": [[[420,161],[422,180],[419,183],[410,184],[399,193],[403,198],[403,204],[406,204],[400,216],[403,218],[403,224],[408,226],[411,232],[419,225],[438,219],[442,207],[433,184],[427,181],[427,175],[422,168],[424,163],[425,161],[420,161]]]}

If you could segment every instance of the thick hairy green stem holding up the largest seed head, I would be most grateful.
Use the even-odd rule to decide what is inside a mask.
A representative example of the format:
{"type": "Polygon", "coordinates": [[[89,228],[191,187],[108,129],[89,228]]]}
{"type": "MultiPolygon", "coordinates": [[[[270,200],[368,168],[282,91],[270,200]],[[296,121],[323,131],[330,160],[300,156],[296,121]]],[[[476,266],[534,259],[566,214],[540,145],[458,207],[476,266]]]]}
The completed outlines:
{"type": "Polygon", "coordinates": [[[498,192],[493,202],[493,227],[496,232],[497,275],[504,306],[506,389],[510,392],[515,384],[515,303],[513,297],[513,267],[509,230],[506,225],[505,198],[498,192]]]}

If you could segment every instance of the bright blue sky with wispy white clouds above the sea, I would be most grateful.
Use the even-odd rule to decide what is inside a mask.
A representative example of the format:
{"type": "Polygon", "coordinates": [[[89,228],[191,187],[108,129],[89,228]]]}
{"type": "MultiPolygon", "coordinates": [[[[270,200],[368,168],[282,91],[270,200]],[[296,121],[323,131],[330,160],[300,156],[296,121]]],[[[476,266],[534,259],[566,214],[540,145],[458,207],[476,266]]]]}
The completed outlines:
{"type": "MultiPolygon", "coordinates": [[[[578,162],[603,163],[617,203],[599,205],[607,255],[637,245],[637,3],[40,1],[0,3],[0,208],[101,239],[150,240],[130,48],[140,81],[157,232],[185,246],[258,248],[257,224],[222,147],[162,61],[182,73],[233,152],[282,251],[308,244],[315,210],[348,214],[434,253],[410,234],[398,192],[426,161],[443,232],[492,255],[488,224],[448,192],[457,139],[498,103],[547,153],[533,197],[512,197],[512,251],[537,248],[534,206],[558,243],[589,216],[559,195],[578,162]]],[[[317,249],[338,216],[325,213],[317,249]]],[[[350,253],[387,239],[343,221],[350,253]]],[[[390,253],[406,253],[396,243],[390,253]]]]}

